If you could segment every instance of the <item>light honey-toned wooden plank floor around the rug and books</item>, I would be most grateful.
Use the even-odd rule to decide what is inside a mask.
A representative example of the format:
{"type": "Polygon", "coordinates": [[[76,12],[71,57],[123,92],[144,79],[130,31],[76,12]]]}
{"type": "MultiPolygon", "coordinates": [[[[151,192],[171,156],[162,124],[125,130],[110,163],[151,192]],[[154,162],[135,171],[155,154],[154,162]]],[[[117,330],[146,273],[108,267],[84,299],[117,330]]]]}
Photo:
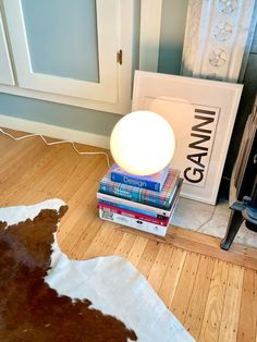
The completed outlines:
{"type": "Polygon", "coordinates": [[[103,156],[78,156],[70,145],[47,147],[38,137],[14,142],[0,134],[1,207],[65,200],[69,211],[58,240],[69,257],[121,255],[197,341],[256,342],[257,251],[233,245],[224,252],[216,237],[174,227],[157,239],[101,221],[96,192],[107,170],[103,156]]]}

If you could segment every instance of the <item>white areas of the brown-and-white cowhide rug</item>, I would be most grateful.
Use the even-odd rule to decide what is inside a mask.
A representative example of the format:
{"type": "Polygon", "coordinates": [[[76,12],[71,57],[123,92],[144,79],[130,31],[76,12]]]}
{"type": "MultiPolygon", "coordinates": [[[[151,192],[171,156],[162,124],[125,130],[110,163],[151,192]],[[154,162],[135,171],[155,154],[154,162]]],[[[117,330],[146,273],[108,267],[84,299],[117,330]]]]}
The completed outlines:
{"type": "MultiPolygon", "coordinates": [[[[63,205],[60,199],[51,199],[34,206],[0,208],[0,221],[15,224],[34,219],[41,209],[59,210],[63,205]]],[[[148,281],[124,258],[71,260],[59,248],[56,236],[52,249],[51,269],[45,281],[60,295],[89,300],[91,307],[133,329],[138,341],[194,341],[148,281]]]]}

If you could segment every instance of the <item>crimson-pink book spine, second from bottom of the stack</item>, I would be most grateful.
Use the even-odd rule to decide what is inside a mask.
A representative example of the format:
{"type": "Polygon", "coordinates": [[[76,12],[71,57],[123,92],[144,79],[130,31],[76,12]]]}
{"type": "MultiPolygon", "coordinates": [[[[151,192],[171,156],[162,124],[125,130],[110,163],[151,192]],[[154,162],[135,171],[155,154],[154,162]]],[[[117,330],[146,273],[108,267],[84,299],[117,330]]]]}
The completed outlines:
{"type": "Polygon", "coordinates": [[[169,219],[170,219],[170,218],[166,218],[166,220],[160,220],[160,219],[152,218],[152,217],[149,217],[149,216],[146,216],[146,215],[143,215],[143,213],[138,213],[138,212],[135,212],[135,211],[121,209],[121,208],[118,208],[118,207],[113,207],[113,206],[105,205],[105,204],[100,204],[100,203],[97,205],[97,208],[98,209],[102,209],[102,210],[110,210],[110,211],[112,211],[114,213],[127,216],[127,217],[131,217],[131,218],[134,218],[134,219],[144,220],[146,222],[150,222],[150,223],[155,223],[155,224],[159,224],[159,225],[163,225],[163,227],[168,225],[169,219]]]}

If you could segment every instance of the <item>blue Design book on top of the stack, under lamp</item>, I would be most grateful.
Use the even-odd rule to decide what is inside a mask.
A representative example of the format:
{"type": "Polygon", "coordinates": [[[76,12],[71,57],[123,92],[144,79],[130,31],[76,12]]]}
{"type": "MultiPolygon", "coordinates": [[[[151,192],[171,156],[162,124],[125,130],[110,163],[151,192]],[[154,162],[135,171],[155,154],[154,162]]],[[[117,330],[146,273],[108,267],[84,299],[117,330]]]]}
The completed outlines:
{"type": "Polygon", "coordinates": [[[118,182],[131,186],[140,188],[152,190],[160,192],[167,180],[169,173],[169,167],[167,166],[160,172],[150,175],[135,175],[123,171],[118,164],[111,167],[111,181],[118,182]]]}

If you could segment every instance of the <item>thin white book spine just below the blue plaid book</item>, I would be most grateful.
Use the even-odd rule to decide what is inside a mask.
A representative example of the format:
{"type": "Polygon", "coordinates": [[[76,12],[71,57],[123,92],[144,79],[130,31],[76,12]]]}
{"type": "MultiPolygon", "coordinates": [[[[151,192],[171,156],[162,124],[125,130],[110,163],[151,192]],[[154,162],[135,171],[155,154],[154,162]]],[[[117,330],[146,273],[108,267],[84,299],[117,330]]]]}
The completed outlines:
{"type": "Polygon", "coordinates": [[[101,200],[107,200],[107,201],[114,203],[115,205],[117,204],[125,205],[127,207],[132,207],[133,209],[137,208],[137,209],[142,209],[142,210],[150,211],[150,212],[160,215],[162,217],[169,217],[170,213],[171,213],[170,209],[166,210],[166,209],[148,206],[146,204],[142,204],[142,203],[138,203],[138,201],[132,201],[132,200],[128,200],[128,199],[124,199],[124,198],[117,197],[117,196],[111,196],[111,195],[99,193],[99,192],[97,193],[97,198],[101,199],[101,200]]]}

